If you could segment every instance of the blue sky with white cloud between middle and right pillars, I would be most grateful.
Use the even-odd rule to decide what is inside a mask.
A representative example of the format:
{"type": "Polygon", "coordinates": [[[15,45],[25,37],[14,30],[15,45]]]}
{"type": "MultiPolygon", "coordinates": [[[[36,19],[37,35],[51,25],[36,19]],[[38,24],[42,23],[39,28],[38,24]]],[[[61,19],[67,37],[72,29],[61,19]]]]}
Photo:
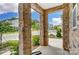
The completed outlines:
{"type": "Polygon", "coordinates": [[[48,23],[52,25],[62,24],[63,10],[48,14],[48,23]]]}

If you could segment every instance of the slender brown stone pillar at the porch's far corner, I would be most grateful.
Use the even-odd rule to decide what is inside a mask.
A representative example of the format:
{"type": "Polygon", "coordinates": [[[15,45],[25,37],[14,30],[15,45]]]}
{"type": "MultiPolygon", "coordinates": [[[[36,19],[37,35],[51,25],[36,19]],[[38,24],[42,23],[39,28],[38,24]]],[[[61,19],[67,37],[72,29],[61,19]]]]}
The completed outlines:
{"type": "Polygon", "coordinates": [[[48,14],[44,11],[41,15],[41,45],[48,45],[48,14]]]}

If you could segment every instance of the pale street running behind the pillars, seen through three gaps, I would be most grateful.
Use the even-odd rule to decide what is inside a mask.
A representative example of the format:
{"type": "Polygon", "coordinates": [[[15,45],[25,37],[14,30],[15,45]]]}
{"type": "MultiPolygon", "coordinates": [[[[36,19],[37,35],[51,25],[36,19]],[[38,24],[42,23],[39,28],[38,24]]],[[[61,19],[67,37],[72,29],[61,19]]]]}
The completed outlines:
{"type": "MultiPolygon", "coordinates": [[[[49,31],[48,34],[55,34],[55,31],[49,31]]],[[[40,31],[32,31],[32,35],[40,35],[40,31]]],[[[19,33],[10,33],[10,34],[3,34],[2,42],[8,41],[8,40],[19,40],[19,33]]]]}

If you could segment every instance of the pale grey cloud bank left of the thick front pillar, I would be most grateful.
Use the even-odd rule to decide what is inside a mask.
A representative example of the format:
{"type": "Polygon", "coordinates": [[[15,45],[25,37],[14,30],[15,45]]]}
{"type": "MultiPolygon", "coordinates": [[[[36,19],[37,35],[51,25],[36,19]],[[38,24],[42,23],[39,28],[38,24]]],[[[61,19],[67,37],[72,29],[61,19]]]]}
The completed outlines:
{"type": "Polygon", "coordinates": [[[0,3],[0,14],[7,12],[18,12],[18,4],[0,3]]]}

